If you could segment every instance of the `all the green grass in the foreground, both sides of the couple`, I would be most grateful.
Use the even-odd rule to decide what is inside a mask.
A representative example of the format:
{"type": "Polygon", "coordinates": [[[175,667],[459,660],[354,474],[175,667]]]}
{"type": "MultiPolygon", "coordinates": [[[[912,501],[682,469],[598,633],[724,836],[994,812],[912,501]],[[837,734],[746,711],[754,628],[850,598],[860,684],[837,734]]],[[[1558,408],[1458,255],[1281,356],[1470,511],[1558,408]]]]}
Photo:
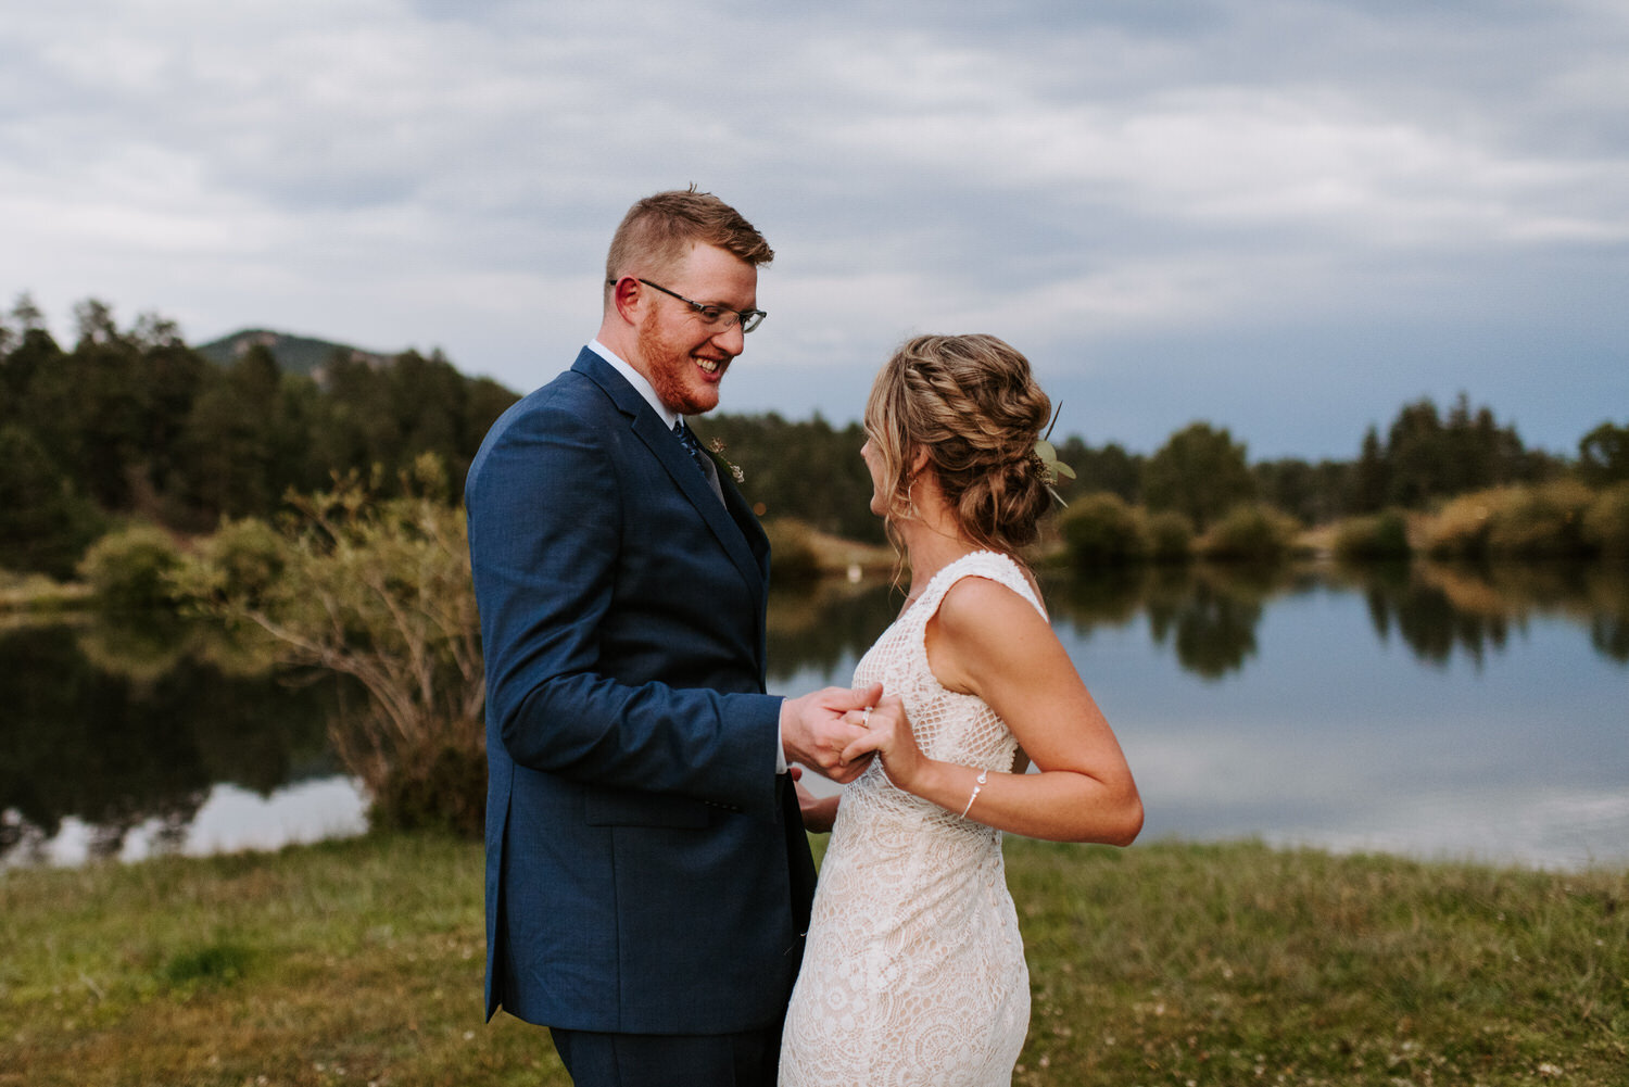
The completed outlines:
{"type": "MultiPolygon", "coordinates": [[[[1629,872],[1008,838],[1016,1084],[1619,1085],[1629,872]]],[[[0,1084],[564,1085],[481,1022],[481,847],[0,875],[0,1084]]]]}

